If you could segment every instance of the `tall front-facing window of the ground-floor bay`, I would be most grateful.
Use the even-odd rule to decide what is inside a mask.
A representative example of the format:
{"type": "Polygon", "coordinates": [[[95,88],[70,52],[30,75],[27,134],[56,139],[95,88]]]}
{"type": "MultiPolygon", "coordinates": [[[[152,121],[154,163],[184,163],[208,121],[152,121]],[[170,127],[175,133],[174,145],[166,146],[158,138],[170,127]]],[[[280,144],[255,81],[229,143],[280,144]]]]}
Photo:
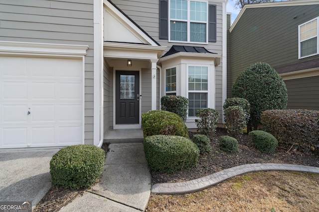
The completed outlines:
{"type": "Polygon", "coordinates": [[[208,67],[188,67],[188,117],[208,107],[208,67]]]}

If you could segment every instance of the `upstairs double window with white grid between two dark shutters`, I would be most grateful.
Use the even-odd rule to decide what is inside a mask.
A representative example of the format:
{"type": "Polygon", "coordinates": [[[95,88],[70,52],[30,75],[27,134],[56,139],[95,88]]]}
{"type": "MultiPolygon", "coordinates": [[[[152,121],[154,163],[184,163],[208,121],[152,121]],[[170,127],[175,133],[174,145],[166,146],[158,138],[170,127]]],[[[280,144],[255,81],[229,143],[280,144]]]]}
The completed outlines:
{"type": "Polygon", "coordinates": [[[169,1],[169,41],[207,43],[208,5],[199,0],[169,1]]]}

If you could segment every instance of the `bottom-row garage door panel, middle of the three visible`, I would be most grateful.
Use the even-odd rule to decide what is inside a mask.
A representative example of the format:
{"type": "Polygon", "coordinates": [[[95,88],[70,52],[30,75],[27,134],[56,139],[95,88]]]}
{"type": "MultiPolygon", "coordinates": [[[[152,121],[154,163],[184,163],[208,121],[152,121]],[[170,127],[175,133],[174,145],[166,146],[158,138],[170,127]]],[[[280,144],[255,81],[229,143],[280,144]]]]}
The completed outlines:
{"type": "Polygon", "coordinates": [[[31,144],[54,144],[55,128],[54,127],[34,127],[32,128],[31,144]]]}

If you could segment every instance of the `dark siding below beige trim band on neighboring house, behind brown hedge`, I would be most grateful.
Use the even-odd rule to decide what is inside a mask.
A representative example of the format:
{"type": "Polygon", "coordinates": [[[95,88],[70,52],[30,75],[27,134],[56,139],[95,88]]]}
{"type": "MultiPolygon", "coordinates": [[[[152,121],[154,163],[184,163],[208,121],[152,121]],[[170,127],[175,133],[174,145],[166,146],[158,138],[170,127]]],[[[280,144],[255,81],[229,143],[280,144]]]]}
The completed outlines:
{"type": "Polygon", "coordinates": [[[319,110],[319,76],[285,80],[289,109],[319,110]]]}

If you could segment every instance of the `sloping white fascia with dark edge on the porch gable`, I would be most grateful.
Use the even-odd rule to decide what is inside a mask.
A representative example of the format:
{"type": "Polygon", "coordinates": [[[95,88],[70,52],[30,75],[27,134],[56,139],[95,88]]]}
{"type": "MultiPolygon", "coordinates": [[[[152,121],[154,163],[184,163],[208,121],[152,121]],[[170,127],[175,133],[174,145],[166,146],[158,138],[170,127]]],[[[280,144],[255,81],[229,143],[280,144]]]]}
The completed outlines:
{"type": "Polygon", "coordinates": [[[160,44],[154,40],[150,35],[147,34],[135,21],[133,21],[129,16],[127,16],[120,8],[118,8],[110,0],[103,0],[103,3],[109,7],[116,15],[118,15],[122,20],[128,23],[137,33],[139,33],[145,40],[149,42],[152,46],[160,46],[160,44]]]}

